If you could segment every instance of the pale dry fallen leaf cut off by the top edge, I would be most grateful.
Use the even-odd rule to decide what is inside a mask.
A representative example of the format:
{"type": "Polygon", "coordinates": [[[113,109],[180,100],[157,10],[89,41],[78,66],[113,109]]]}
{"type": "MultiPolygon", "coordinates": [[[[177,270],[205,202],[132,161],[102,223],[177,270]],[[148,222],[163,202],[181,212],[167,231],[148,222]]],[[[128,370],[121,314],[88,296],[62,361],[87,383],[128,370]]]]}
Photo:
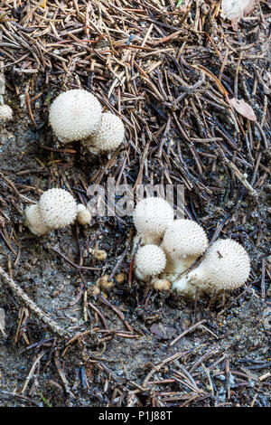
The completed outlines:
{"type": "Polygon", "coordinates": [[[254,11],[257,0],[222,0],[221,10],[231,21],[232,28],[237,31],[238,22],[254,11]]]}

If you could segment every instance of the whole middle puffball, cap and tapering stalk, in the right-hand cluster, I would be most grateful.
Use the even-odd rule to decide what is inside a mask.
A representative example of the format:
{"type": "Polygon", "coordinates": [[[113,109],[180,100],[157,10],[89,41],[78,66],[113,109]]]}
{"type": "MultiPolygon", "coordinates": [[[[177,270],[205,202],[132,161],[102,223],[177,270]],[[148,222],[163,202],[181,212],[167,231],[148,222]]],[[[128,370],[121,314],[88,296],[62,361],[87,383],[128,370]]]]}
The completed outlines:
{"type": "Polygon", "coordinates": [[[171,282],[188,269],[207,249],[208,240],[202,227],[192,220],[179,219],[169,224],[161,248],[167,263],[163,278],[171,282]]]}

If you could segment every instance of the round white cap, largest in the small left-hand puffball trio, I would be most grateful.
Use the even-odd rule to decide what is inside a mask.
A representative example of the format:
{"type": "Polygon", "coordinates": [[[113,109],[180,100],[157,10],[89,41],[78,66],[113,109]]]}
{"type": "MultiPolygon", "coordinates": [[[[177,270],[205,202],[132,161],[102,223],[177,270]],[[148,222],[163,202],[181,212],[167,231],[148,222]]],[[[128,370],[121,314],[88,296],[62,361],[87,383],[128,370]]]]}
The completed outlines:
{"type": "Polygon", "coordinates": [[[60,229],[75,221],[77,204],[64,189],[49,189],[42,194],[40,203],[42,221],[52,229],[60,229]]]}

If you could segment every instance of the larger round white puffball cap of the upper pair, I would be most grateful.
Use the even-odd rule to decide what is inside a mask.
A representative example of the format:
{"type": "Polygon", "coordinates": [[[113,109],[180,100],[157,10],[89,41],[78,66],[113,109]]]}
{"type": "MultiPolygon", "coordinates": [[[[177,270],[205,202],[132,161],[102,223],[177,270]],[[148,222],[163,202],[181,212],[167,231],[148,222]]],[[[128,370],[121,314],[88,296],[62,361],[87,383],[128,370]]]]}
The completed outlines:
{"type": "Polygon", "coordinates": [[[87,90],[68,90],[51,104],[49,121],[64,143],[89,137],[101,119],[102,107],[87,90]]]}

